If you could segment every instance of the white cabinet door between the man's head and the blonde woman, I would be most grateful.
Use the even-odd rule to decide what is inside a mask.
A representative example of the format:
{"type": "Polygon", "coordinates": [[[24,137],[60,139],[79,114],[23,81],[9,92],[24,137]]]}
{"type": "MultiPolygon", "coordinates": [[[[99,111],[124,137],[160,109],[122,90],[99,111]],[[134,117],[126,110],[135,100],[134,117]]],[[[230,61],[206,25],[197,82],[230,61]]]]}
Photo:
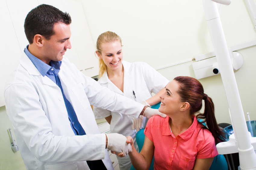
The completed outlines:
{"type": "MultiPolygon", "coordinates": [[[[70,14],[72,23],[71,34],[81,64],[81,69],[86,76],[98,75],[98,60],[94,55],[95,48],[91,39],[90,31],[80,2],[69,0],[38,0],[39,4],[52,5],[63,12],[70,14]]],[[[71,48],[71,50],[72,50],[71,48]]],[[[71,61],[72,62],[72,61],[71,61]]]]}

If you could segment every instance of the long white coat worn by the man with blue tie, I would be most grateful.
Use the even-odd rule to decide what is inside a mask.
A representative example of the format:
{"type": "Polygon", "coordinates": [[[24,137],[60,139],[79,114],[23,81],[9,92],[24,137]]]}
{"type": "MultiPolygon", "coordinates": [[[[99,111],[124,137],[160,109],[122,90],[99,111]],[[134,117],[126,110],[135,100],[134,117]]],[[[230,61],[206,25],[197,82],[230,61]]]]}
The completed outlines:
{"type": "Polygon", "coordinates": [[[60,88],[40,75],[24,51],[5,85],[6,111],[27,170],[89,170],[86,160],[99,159],[113,169],[90,104],[137,118],[144,106],[84,76],[66,57],[58,76],[86,135],[74,134],[60,88]]]}

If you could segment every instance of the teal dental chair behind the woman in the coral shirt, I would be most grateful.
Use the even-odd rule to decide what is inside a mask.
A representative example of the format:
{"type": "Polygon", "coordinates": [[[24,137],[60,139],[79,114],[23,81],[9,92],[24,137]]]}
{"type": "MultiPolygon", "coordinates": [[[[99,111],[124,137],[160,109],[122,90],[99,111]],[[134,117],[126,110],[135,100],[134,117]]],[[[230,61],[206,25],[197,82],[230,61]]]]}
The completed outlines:
{"type": "MultiPolygon", "coordinates": [[[[160,107],[160,103],[151,106],[151,108],[153,108],[153,109],[158,109],[159,107],[160,107]]],[[[201,122],[203,120],[200,119],[198,121],[201,122]]],[[[205,125],[205,123],[203,123],[203,124],[205,125]]],[[[144,139],[145,139],[144,129],[141,129],[136,134],[136,141],[137,141],[137,145],[139,147],[139,152],[141,152],[141,149],[143,147],[144,139]]],[[[218,169],[218,170],[227,170],[228,169],[228,164],[227,164],[227,161],[226,161],[224,155],[217,155],[214,157],[213,163],[209,170],[216,170],[216,169],[218,169]]],[[[131,170],[135,170],[135,168],[133,166],[131,166],[131,170]]],[[[149,170],[154,170],[154,157],[150,164],[149,170]]]]}

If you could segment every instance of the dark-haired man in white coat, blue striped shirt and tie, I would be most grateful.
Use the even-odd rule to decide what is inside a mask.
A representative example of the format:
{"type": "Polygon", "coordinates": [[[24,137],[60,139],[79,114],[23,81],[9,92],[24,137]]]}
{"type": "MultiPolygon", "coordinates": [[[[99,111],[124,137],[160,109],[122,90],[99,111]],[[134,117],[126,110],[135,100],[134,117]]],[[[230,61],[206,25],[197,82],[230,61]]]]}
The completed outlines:
{"type": "Polygon", "coordinates": [[[135,118],[146,109],[63,57],[71,48],[70,23],[69,14],[53,6],[31,10],[24,24],[29,45],[5,85],[7,114],[27,170],[113,169],[106,148],[127,154],[131,146],[121,134],[100,134],[90,104],[135,118]]]}

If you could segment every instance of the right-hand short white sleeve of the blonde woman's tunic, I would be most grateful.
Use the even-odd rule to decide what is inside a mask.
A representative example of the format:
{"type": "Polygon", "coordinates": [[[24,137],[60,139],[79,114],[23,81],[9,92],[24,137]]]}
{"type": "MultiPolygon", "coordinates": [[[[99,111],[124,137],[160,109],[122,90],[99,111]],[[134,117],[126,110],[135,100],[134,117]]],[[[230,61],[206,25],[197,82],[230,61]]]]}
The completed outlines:
{"type": "Polygon", "coordinates": [[[157,94],[170,82],[147,63],[143,63],[143,68],[144,79],[151,93],[157,94]]]}

